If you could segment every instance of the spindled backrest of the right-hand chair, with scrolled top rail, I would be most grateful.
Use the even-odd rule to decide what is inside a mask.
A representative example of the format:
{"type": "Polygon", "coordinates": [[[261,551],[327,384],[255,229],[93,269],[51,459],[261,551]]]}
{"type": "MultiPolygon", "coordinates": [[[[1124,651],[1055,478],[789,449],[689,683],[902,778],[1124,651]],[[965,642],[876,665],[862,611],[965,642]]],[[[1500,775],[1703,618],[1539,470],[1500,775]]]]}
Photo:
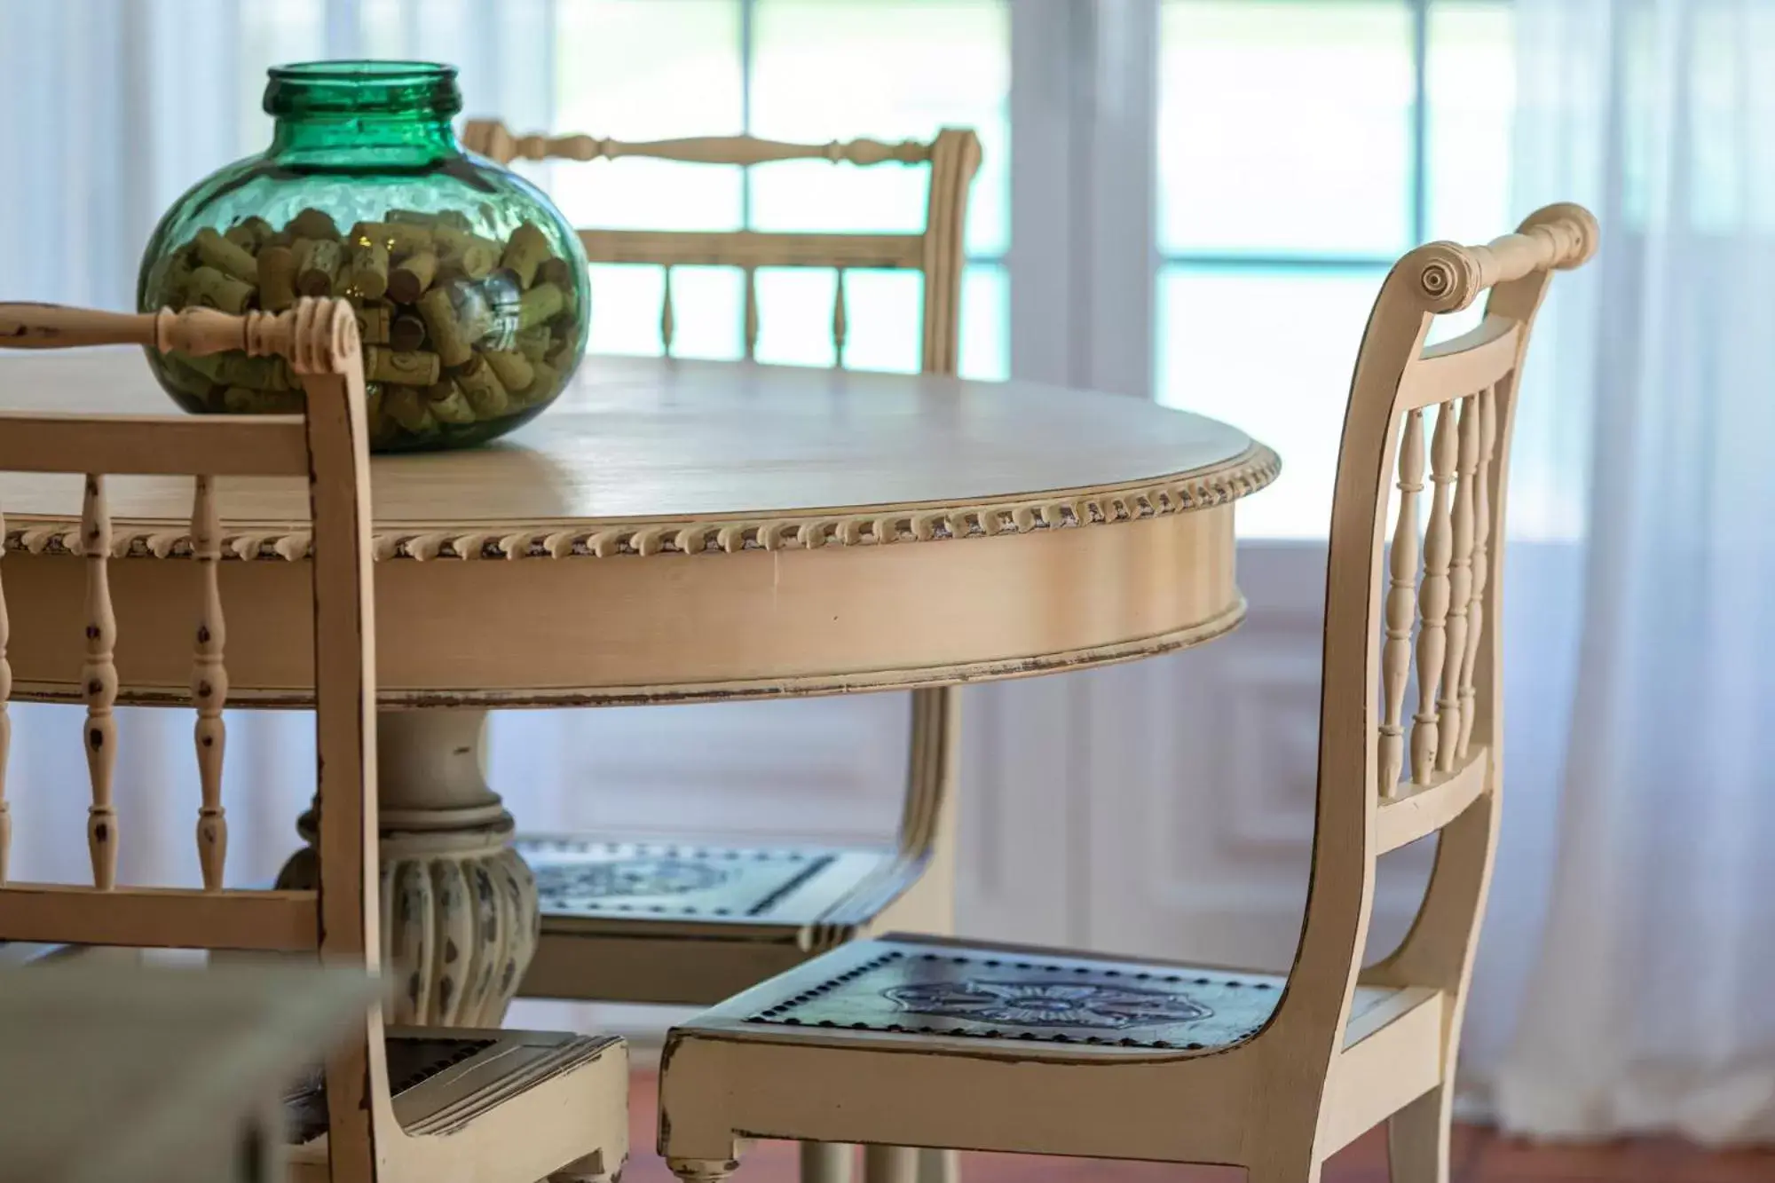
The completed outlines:
{"type": "Polygon", "coordinates": [[[1338,1039],[1376,861],[1434,833],[1418,918],[1361,981],[1443,989],[1459,1028],[1496,840],[1498,593],[1518,382],[1553,270],[1587,261],[1598,236],[1582,206],[1548,206],[1484,247],[1411,250],[1376,298],[1337,467],[1314,872],[1278,1023],[1338,1039]],[[1482,323],[1425,348],[1436,316],[1480,293],[1482,323]]]}

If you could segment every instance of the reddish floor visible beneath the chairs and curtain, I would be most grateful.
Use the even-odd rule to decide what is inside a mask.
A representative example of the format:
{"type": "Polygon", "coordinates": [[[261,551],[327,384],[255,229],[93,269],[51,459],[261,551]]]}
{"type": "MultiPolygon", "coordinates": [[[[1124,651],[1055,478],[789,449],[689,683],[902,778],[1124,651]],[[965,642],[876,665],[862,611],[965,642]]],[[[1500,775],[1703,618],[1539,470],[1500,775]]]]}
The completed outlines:
{"type": "MultiPolygon", "coordinates": [[[[674,1183],[653,1153],[651,1073],[635,1073],[628,1112],[632,1151],[623,1183],[674,1183]]],[[[964,1183],[1242,1183],[1244,1172],[1145,1162],[964,1155],[962,1176],[964,1183]]],[[[758,1142],[740,1162],[735,1183],[795,1183],[795,1147],[758,1142]]],[[[1386,1142],[1379,1131],[1337,1155],[1326,1165],[1324,1183],[1388,1183],[1386,1142]]],[[[1775,1183],[1775,1149],[1704,1153],[1677,1140],[1530,1146],[1461,1126],[1456,1130],[1452,1183],[1775,1183]]]]}

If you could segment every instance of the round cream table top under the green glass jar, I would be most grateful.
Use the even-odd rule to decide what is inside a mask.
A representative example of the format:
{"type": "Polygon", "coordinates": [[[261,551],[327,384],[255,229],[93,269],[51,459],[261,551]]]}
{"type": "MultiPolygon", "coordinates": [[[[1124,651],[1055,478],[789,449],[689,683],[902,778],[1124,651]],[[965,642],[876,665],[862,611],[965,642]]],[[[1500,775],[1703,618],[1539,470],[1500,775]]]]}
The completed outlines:
{"type": "MultiPolygon", "coordinates": [[[[165,414],[133,348],[0,357],[0,407],[165,414]]],[[[696,361],[588,359],[540,419],[474,451],[376,457],[378,535],[879,515],[1180,476],[1257,485],[1239,430],[1116,394],[696,361]]],[[[188,478],[112,478],[119,524],[190,517],[188,478]]],[[[78,480],[0,474],[9,519],[78,517],[78,480]]],[[[300,528],[302,481],[220,481],[224,528],[300,528]]],[[[382,549],[387,558],[398,551],[382,549]]]]}

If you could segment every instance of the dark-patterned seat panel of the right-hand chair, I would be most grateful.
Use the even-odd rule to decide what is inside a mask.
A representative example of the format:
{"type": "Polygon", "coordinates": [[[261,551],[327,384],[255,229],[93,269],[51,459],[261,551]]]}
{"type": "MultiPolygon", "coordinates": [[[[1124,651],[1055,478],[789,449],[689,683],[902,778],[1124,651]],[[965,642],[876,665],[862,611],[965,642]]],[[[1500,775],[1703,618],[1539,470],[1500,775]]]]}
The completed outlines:
{"type": "MultiPolygon", "coordinates": [[[[1274,973],[1074,956],[943,938],[888,936],[808,961],[685,1025],[774,1037],[856,1032],[966,1037],[976,1050],[1031,1043],[1216,1052],[1255,1036],[1287,979],[1274,973]]],[[[1351,1032],[1392,988],[1360,986],[1351,1032]]]]}

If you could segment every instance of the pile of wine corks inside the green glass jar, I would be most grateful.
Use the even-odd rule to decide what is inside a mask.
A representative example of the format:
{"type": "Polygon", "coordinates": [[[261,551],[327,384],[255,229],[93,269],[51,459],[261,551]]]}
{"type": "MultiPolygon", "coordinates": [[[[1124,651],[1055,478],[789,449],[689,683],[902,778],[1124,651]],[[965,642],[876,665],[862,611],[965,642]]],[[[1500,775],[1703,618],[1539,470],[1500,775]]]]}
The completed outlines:
{"type": "MultiPolygon", "coordinates": [[[[259,217],[201,229],[163,266],[154,304],[280,313],[296,297],[357,309],[373,444],[485,435],[538,407],[579,350],[572,263],[522,222],[506,242],[456,211],[389,210],[341,234],[321,210],[282,229],[259,217]]],[[[280,357],[170,353],[167,380],[208,410],[295,412],[302,391],[280,357]]]]}

